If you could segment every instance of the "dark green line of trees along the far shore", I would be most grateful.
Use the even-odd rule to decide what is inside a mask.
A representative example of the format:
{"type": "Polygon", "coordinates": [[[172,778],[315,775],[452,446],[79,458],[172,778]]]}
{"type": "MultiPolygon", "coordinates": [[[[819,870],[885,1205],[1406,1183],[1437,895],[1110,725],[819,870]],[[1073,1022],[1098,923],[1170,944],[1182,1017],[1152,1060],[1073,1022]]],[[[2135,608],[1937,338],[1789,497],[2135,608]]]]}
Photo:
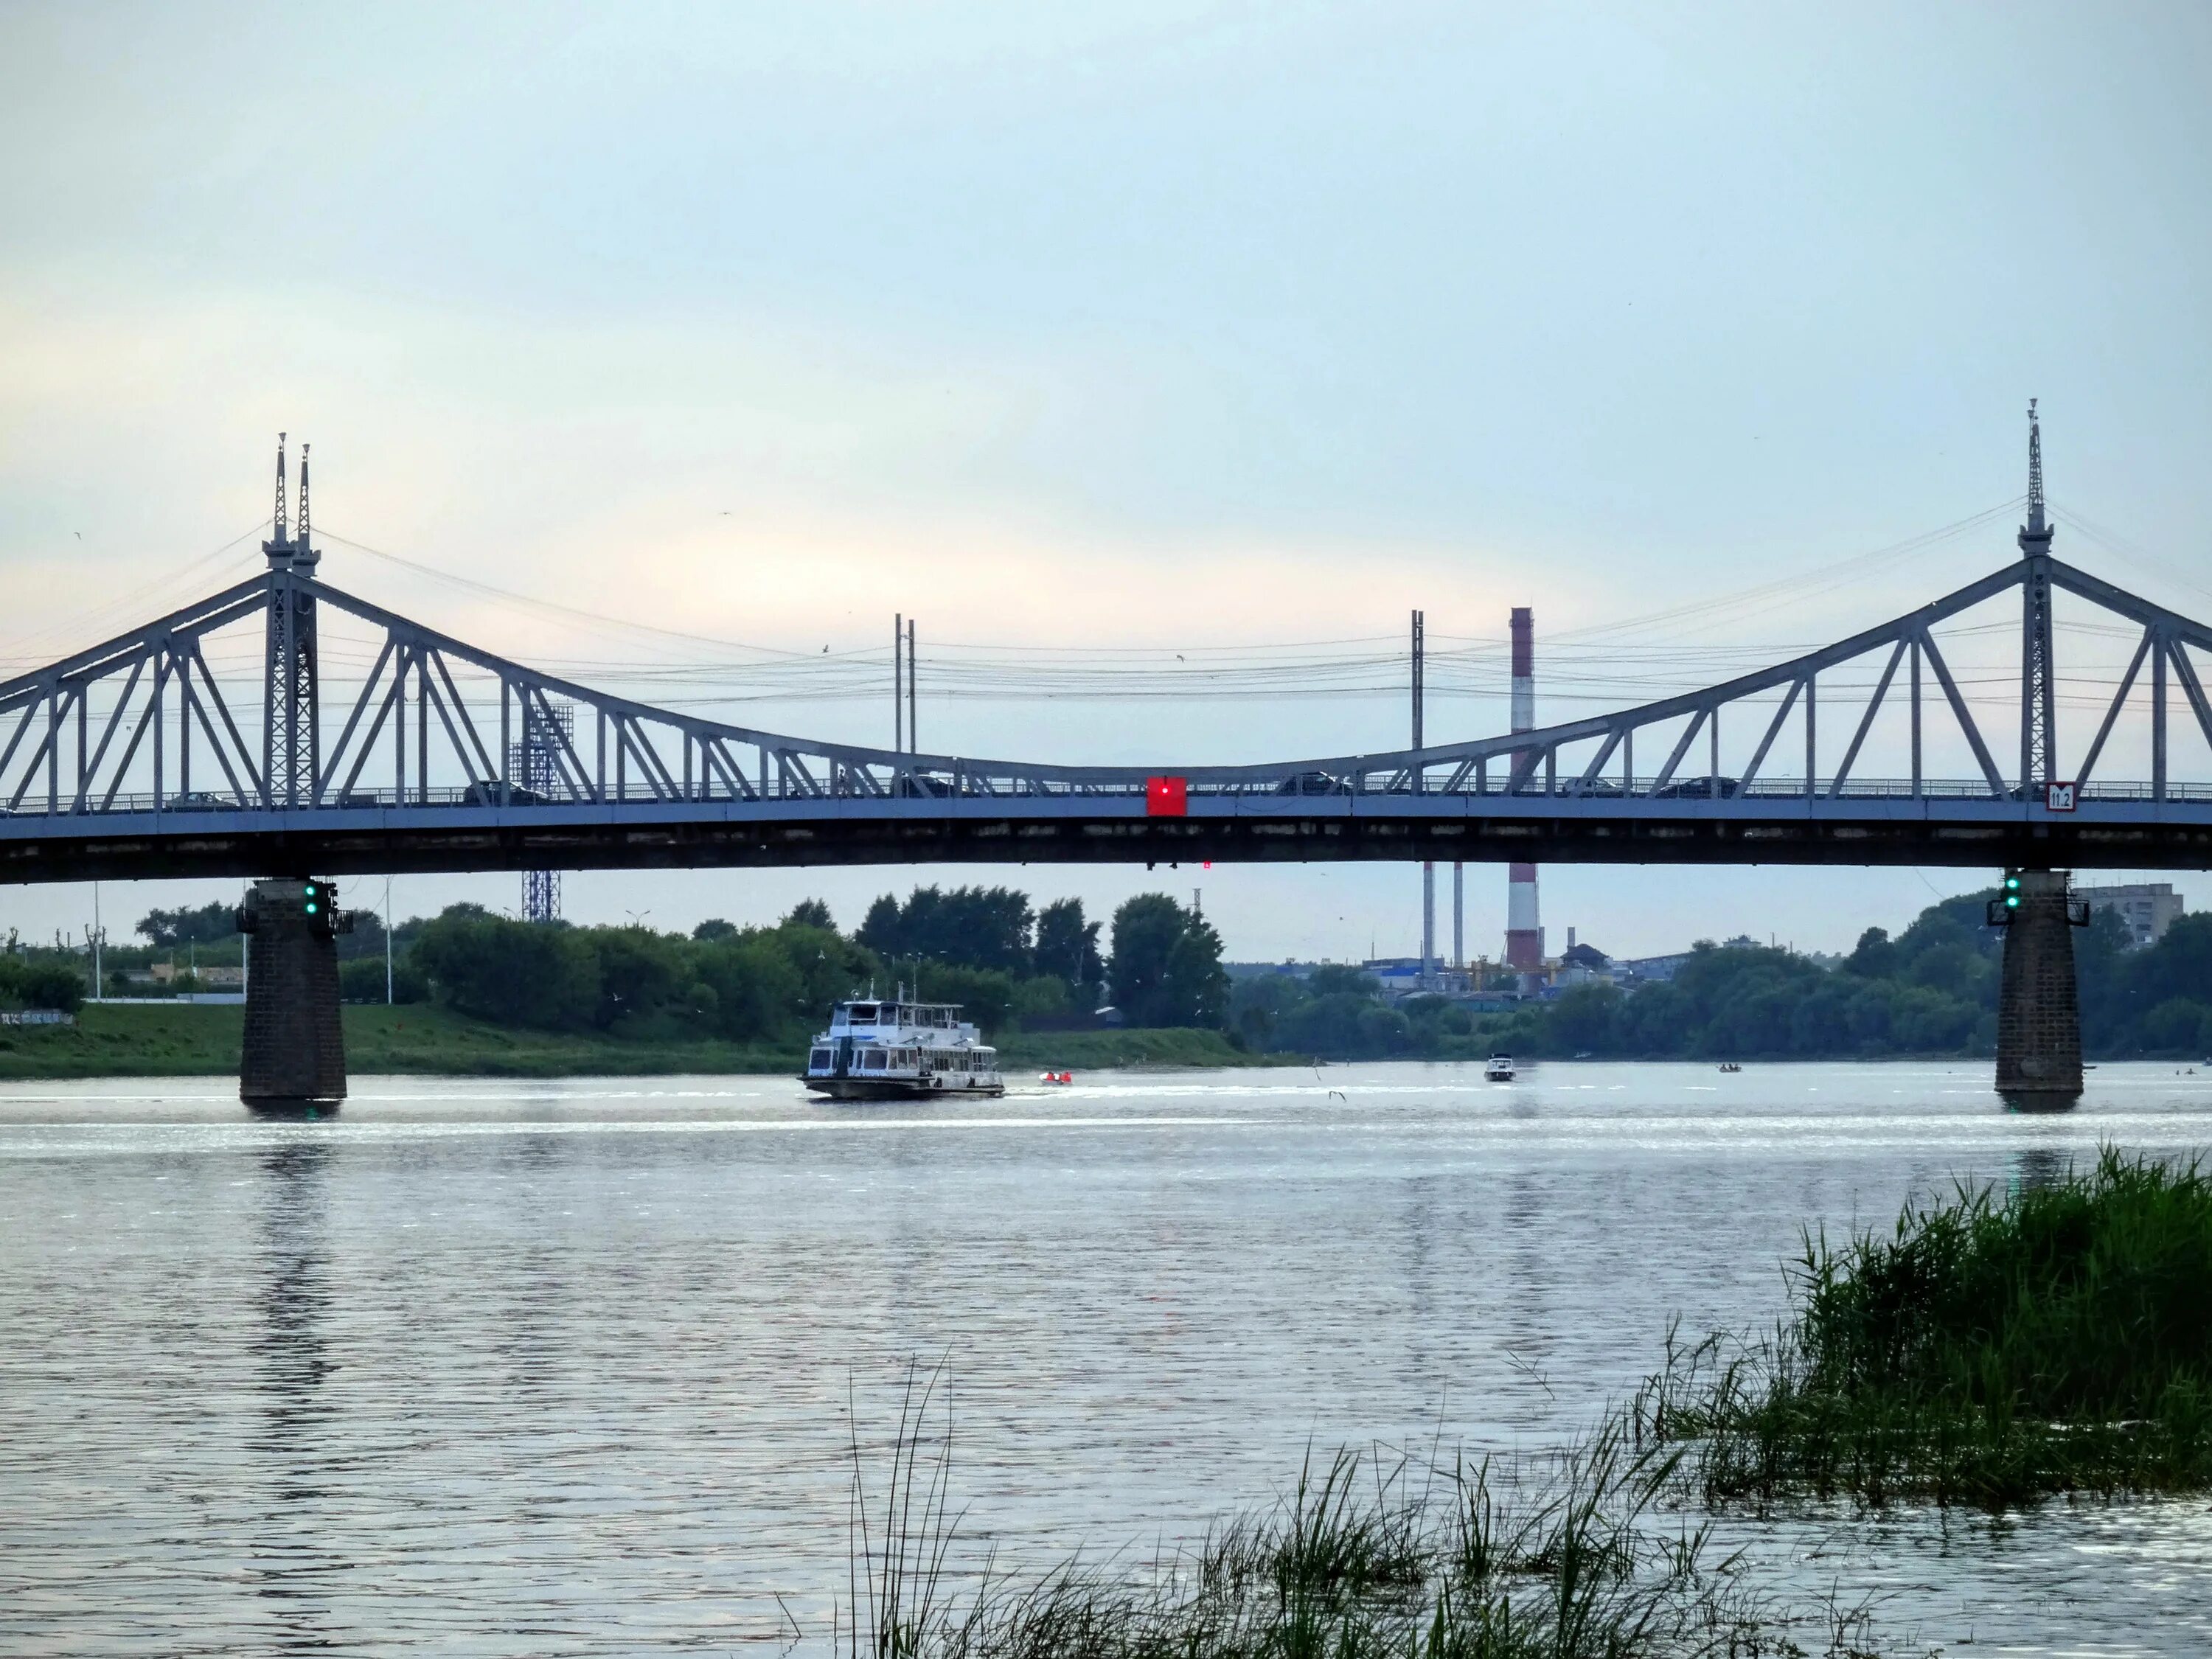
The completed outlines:
{"type": "MultiPolygon", "coordinates": [[[[513,1026],[699,1033],[792,1044],[832,1002],[905,984],[960,1002],[991,1033],[1077,1024],[1113,1002],[1130,1026],[1214,1026],[1254,1051],[1343,1060],[1553,1057],[1838,1060],[1986,1055],[1995,1048],[2002,929],[1993,894],[1927,907],[1891,938],[1869,927],[1840,964],[1785,949],[1699,942],[1672,980],[1575,984],[1548,1002],[1478,1013],[1447,998],[1391,1002],[1356,967],[1267,973],[1230,987],[1221,936],[1168,894],[1124,902],[1110,927],[1082,900],[1033,905],[1013,887],[880,896],[838,931],[807,900],[772,927],[526,925],[453,905],[394,929],[394,993],[513,1026]],[[1102,933],[1104,945],[1102,945],[1102,933]]],[[[234,945],[228,905],[150,911],[150,949],[234,945]]],[[[341,991],[385,1000],[385,938],[363,911],[338,940],[341,991]]],[[[82,960],[82,958],[80,958],[82,960]]],[[[2212,1053],[2212,914],[2146,949],[2097,911],[2075,931],[2081,1035],[2093,1057],[2212,1053]]],[[[75,1006],[82,967],[42,949],[0,960],[0,1004],[75,1006]],[[51,956],[51,960],[49,960],[51,956]]]]}

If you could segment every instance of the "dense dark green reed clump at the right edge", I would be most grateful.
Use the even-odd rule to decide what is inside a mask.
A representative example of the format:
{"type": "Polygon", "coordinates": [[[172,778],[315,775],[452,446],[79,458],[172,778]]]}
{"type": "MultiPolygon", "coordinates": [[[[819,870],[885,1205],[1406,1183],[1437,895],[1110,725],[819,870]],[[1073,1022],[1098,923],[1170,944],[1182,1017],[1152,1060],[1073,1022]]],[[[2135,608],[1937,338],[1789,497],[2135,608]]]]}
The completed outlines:
{"type": "Polygon", "coordinates": [[[1708,1500],[2212,1486],[2212,1177],[2106,1148],[2011,1197],[1953,1188],[1889,1237],[1805,1239],[1794,1318],[1670,1338],[1632,1418],[1708,1500]]]}

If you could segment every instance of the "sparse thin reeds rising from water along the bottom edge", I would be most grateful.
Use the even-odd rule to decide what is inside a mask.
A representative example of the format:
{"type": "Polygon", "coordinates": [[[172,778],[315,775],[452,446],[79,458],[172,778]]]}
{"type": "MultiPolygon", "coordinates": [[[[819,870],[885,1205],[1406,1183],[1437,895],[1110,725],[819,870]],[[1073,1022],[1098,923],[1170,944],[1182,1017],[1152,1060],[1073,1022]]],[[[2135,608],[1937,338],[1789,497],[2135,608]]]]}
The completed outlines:
{"type": "Polygon", "coordinates": [[[909,1374],[889,1480],[854,1440],[847,1659],[1865,1659],[1865,1608],[1785,1615],[1661,1509],[1679,1449],[1613,1418],[1513,1464],[1338,1451],[1267,1511],[1133,1564],[964,1564],[940,1378],[909,1374]],[[1803,1646],[1798,1637],[1814,1641],[1803,1646]]]}

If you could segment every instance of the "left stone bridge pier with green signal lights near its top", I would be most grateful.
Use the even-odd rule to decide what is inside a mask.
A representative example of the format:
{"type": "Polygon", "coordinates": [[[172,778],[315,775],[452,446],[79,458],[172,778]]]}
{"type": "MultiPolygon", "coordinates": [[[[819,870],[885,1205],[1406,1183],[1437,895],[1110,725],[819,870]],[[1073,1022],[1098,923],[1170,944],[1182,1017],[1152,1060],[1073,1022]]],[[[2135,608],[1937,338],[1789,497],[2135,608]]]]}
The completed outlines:
{"type": "Polygon", "coordinates": [[[246,936],[246,1044],[239,1099],[257,1113],[321,1117],[345,1099],[338,933],[347,918],[316,878],[257,880],[239,905],[246,936]]]}

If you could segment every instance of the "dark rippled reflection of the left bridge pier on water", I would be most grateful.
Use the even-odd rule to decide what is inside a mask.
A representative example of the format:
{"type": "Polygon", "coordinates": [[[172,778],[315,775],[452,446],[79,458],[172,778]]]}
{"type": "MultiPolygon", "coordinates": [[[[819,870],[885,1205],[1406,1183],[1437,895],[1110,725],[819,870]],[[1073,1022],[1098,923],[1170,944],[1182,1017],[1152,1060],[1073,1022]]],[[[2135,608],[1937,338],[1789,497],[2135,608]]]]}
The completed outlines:
{"type": "Polygon", "coordinates": [[[341,1571],[323,1546],[330,1405],[325,1383],[336,1369],[330,1323],[330,1161],[319,1135],[288,1135],[261,1155],[265,1192],[259,1223],[259,1329],[252,1352],[261,1371],[261,1422],[246,1451],[265,1475],[265,1513],[252,1540],[248,1571],[254,1593],[272,1601],[279,1652],[336,1646],[325,1628],[327,1595],[341,1571]]]}

